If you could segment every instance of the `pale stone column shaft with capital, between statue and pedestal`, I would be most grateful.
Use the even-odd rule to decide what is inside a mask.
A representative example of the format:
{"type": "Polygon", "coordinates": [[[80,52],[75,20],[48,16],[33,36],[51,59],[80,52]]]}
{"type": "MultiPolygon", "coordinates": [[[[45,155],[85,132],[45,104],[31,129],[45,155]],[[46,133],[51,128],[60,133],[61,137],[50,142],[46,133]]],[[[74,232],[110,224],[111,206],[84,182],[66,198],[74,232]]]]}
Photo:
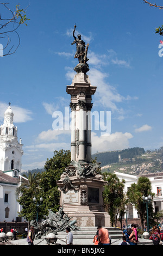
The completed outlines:
{"type": "Polygon", "coordinates": [[[91,108],[96,87],[83,72],[74,76],[66,92],[71,95],[71,160],[91,162],[91,108]]]}

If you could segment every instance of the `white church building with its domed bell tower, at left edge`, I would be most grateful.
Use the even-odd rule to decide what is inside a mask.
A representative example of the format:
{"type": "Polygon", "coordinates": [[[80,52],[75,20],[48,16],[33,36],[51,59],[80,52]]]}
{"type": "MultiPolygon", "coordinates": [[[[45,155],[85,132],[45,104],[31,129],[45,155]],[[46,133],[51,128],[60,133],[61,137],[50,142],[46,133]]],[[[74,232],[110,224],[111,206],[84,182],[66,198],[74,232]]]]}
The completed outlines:
{"type": "Polygon", "coordinates": [[[9,106],[0,126],[0,222],[16,221],[20,205],[16,188],[20,185],[22,166],[22,143],[17,141],[17,127],[13,124],[14,113],[9,106]]]}

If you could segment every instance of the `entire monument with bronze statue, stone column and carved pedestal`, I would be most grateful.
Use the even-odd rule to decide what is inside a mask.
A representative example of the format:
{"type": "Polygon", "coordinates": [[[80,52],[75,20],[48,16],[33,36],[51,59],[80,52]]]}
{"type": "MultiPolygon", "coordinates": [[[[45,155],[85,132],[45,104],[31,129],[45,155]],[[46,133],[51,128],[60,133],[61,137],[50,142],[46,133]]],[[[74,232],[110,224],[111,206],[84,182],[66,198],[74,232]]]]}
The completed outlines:
{"type": "Polygon", "coordinates": [[[74,58],[79,63],[74,68],[72,84],[66,87],[71,95],[71,163],[57,181],[61,192],[60,205],[64,212],[77,221],[78,227],[110,226],[110,216],[103,207],[102,193],[106,182],[100,172],[100,163],[92,163],[91,159],[91,109],[92,95],[96,86],[92,86],[87,64],[88,44],[74,35],[72,44],[77,45],[74,58]]]}

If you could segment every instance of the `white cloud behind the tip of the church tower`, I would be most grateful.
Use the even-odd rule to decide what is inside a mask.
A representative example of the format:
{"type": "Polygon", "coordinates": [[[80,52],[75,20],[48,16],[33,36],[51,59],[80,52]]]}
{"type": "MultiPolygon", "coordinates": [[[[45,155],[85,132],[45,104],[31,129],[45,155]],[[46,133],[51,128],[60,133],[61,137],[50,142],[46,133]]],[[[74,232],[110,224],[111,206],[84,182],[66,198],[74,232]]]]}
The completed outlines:
{"type": "MultiPolygon", "coordinates": [[[[0,119],[4,119],[4,112],[8,108],[9,105],[6,103],[0,102],[0,119]]],[[[14,123],[25,123],[27,121],[32,120],[32,111],[26,108],[11,106],[11,109],[14,113],[14,123]]]]}

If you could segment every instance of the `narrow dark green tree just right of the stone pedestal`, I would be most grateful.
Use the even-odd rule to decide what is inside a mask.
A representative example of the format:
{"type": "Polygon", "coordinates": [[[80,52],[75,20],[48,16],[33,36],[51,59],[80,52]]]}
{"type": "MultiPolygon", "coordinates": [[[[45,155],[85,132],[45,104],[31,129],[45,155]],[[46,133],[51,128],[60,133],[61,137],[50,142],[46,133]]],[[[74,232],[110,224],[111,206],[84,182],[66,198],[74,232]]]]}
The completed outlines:
{"type": "MultiPolygon", "coordinates": [[[[106,211],[110,215],[111,225],[116,225],[117,216],[121,214],[124,202],[124,183],[125,181],[117,178],[116,174],[104,173],[104,180],[107,185],[104,187],[103,199],[106,211]]],[[[124,211],[124,210],[123,210],[124,211]]]]}

